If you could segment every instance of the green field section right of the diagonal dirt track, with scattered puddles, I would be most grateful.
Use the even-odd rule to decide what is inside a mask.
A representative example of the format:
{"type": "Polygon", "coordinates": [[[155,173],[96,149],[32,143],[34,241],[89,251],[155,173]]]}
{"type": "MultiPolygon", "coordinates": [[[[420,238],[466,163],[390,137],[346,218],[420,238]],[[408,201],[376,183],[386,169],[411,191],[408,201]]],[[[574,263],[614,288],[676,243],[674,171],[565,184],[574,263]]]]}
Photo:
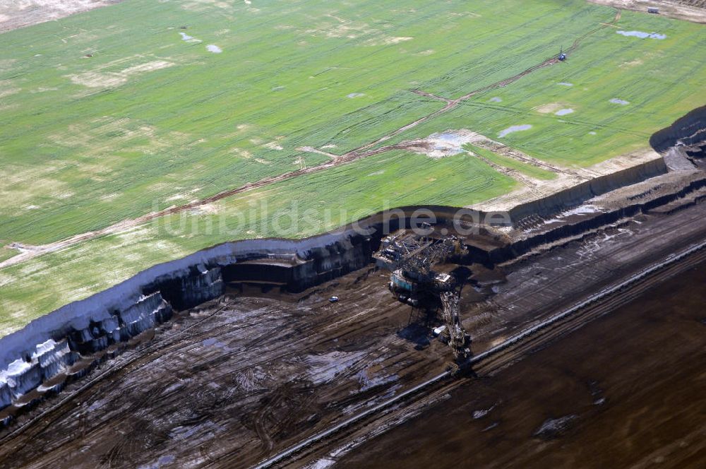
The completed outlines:
{"type": "Polygon", "coordinates": [[[465,126],[548,162],[592,165],[645,148],[654,131],[686,114],[685,109],[703,105],[705,76],[703,25],[623,11],[618,28],[586,37],[568,61],[475,95],[396,140],[465,126]],[[625,37],[618,30],[659,32],[666,38],[625,37]],[[561,109],[573,112],[555,114],[561,109]],[[498,138],[503,129],[526,124],[532,128],[498,138]]]}

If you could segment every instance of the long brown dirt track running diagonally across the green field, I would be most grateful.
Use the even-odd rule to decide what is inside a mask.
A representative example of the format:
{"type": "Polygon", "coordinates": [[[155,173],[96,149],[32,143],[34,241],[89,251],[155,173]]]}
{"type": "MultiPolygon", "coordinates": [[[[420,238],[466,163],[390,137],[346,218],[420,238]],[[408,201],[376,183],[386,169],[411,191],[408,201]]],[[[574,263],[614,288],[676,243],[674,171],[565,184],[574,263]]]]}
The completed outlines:
{"type": "MultiPolygon", "coordinates": [[[[617,23],[618,20],[620,20],[620,18],[621,18],[621,12],[622,11],[618,9],[616,16],[611,21],[611,23],[603,23],[603,25],[599,26],[599,28],[595,28],[594,30],[589,31],[589,32],[585,33],[584,35],[578,37],[576,40],[574,40],[573,44],[568,49],[567,53],[573,52],[575,49],[577,49],[579,47],[580,43],[582,42],[582,40],[584,40],[586,37],[589,37],[590,35],[594,34],[595,32],[598,32],[599,30],[602,30],[604,28],[608,28],[610,25],[614,25],[615,23],[617,23]]],[[[383,153],[388,150],[397,149],[397,148],[399,148],[397,146],[388,146],[388,147],[378,148],[376,150],[369,150],[370,148],[373,148],[374,146],[377,146],[380,143],[388,141],[390,138],[393,138],[394,136],[397,136],[400,133],[403,133],[409,129],[413,129],[414,127],[418,126],[419,124],[421,124],[425,121],[428,121],[430,119],[433,119],[434,117],[438,117],[441,114],[445,114],[445,112],[448,112],[452,109],[455,109],[455,107],[460,105],[462,102],[468,100],[470,97],[473,97],[474,95],[477,95],[479,93],[484,93],[485,91],[493,90],[496,88],[503,88],[507,85],[510,85],[511,83],[514,83],[517,80],[520,80],[520,78],[527,76],[528,74],[530,74],[534,71],[537,71],[539,69],[543,69],[546,66],[554,65],[557,63],[558,63],[558,59],[556,59],[554,57],[552,57],[551,59],[546,59],[546,60],[542,61],[540,64],[537,64],[535,66],[530,67],[529,69],[526,69],[525,71],[517,73],[517,75],[515,75],[515,76],[511,76],[510,78],[505,78],[504,80],[498,81],[496,83],[492,83],[491,85],[486,85],[482,88],[479,88],[479,89],[474,90],[470,93],[467,93],[466,95],[463,95],[455,100],[441,97],[441,96],[437,96],[437,95],[433,95],[431,93],[426,93],[423,90],[414,90],[413,93],[417,93],[418,95],[425,96],[425,97],[431,97],[431,99],[442,100],[442,101],[446,102],[446,105],[444,107],[442,107],[441,109],[438,109],[437,111],[432,112],[431,114],[427,114],[426,116],[420,117],[419,119],[412,121],[409,124],[406,124],[405,126],[402,126],[399,129],[397,129],[391,133],[388,133],[385,136],[378,138],[376,141],[373,141],[371,143],[367,143],[366,145],[360,146],[358,148],[354,148],[353,150],[350,150],[347,153],[344,153],[343,155],[334,155],[333,153],[322,152],[321,150],[318,150],[317,148],[313,148],[313,147],[311,147],[311,148],[310,147],[301,147],[301,150],[303,150],[303,151],[309,151],[310,153],[323,153],[325,155],[328,155],[329,158],[331,158],[330,162],[325,162],[321,165],[300,168],[299,170],[285,172],[283,174],[278,174],[277,176],[266,177],[264,179],[260,179],[255,182],[249,182],[247,184],[236,187],[234,189],[229,189],[227,191],[219,192],[218,194],[214,194],[213,196],[202,198],[198,201],[186,203],[181,206],[173,206],[173,207],[165,208],[164,210],[150,212],[145,215],[141,215],[138,218],[131,218],[128,220],[122,220],[120,222],[114,223],[113,225],[109,225],[108,227],[101,228],[100,230],[94,230],[94,231],[90,231],[90,232],[81,233],[79,235],[68,237],[66,239],[61,239],[60,241],[57,241],[57,242],[52,242],[52,243],[42,244],[42,245],[37,245],[37,246],[25,245],[22,243],[13,242],[13,243],[9,244],[9,246],[13,247],[14,249],[19,249],[20,254],[17,254],[16,256],[11,257],[10,259],[6,259],[5,261],[0,262],[0,269],[6,268],[9,266],[13,266],[18,263],[22,263],[24,261],[28,261],[30,259],[35,258],[36,256],[40,256],[41,254],[46,254],[48,252],[54,252],[54,251],[60,251],[62,249],[66,249],[66,248],[71,247],[71,246],[78,244],[80,242],[85,242],[90,239],[100,238],[100,237],[104,237],[107,235],[113,235],[117,232],[122,232],[124,230],[127,230],[128,228],[135,227],[137,225],[142,225],[145,222],[150,222],[150,221],[155,220],[157,218],[162,218],[167,215],[174,215],[177,213],[184,212],[186,210],[192,210],[194,208],[199,208],[199,207],[205,206],[209,203],[217,202],[223,198],[228,198],[228,197],[231,197],[231,196],[234,196],[237,194],[241,194],[246,191],[253,191],[255,189],[261,189],[262,187],[268,186],[270,184],[275,184],[277,182],[283,182],[288,179],[293,179],[295,177],[304,176],[305,174],[311,174],[314,172],[328,170],[328,169],[330,169],[332,167],[336,167],[338,165],[345,165],[349,162],[360,160],[361,158],[367,158],[369,156],[377,155],[379,153],[383,153]],[[369,150],[369,151],[366,151],[366,150],[369,150]]]]}

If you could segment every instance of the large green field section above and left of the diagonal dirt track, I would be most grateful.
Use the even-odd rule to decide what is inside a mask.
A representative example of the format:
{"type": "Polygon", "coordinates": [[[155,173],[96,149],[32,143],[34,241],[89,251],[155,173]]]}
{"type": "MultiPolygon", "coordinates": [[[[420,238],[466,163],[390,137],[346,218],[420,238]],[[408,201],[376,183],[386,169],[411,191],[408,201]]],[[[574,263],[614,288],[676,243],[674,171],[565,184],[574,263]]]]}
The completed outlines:
{"type": "MultiPolygon", "coordinates": [[[[493,83],[573,35],[553,28],[573,13],[537,1],[512,18],[532,35],[491,47],[513,4],[128,0],[3,35],[0,239],[51,242],[316,165],[296,148],[369,143],[438,109],[409,90],[522,51],[472,85],[493,83]]],[[[580,11],[578,33],[612,15],[580,11]]]]}

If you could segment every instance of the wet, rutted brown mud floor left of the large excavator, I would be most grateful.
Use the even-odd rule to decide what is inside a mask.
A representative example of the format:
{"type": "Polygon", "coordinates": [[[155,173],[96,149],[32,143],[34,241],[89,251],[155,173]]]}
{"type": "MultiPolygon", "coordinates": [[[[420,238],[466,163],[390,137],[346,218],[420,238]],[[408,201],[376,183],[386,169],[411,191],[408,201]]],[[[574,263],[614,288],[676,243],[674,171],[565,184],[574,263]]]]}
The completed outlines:
{"type": "Polygon", "coordinates": [[[387,281],[359,271],[304,295],[253,288],[181,314],[95,370],[109,374],[85,391],[85,381],[69,386],[64,405],[56,398],[20,417],[19,425],[59,404],[50,425],[38,420],[0,445],[0,465],[255,463],[443,366],[426,330],[407,327],[411,307],[393,300],[387,281]],[[334,293],[340,302],[330,304],[334,293]]]}

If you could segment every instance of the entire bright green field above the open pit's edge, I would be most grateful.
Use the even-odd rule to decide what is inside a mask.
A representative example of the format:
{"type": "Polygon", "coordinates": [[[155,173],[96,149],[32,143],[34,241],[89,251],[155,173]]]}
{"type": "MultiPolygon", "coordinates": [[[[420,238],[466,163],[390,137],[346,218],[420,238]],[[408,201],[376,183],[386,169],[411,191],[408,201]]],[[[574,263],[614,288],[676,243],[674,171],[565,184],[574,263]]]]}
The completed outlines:
{"type": "MultiPolygon", "coordinates": [[[[565,63],[474,95],[385,144],[470,129],[564,166],[647,148],[651,133],[703,104],[706,29],[629,11],[605,25],[615,17],[581,0],[127,0],[6,32],[0,244],[56,242],[321,165],[327,156],[297,148],[342,155],[443,107],[413,90],[457,98],[578,39],[565,63]],[[499,136],[524,124],[531,129],[499,136]]],[[[537,170],[528,168],[513,169],[537,170]]],[[[294,177],[1,269],[0,336],[219,242],[313,235],[385,207],[465,206],[515,187],[470,155],[402,151],[294,177]],[[253,206],[248,222],[234,222],[253,206]],[[309,209],[317,215],[301,215],[309,209]],[[277,215],[292,210],[301,220],[276,229],[277,215]]],[[[0,261],[14,252],[3,248],[0,261]]]]}

